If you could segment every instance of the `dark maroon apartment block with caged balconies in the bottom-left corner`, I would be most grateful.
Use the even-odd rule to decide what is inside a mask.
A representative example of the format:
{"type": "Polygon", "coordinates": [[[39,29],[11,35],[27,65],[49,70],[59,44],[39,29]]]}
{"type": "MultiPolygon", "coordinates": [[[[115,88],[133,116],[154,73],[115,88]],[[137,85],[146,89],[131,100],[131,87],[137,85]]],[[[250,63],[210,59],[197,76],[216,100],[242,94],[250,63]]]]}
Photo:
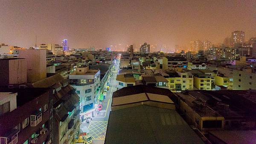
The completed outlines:
{"type": "Polygon", "coordinates": [[[50,144],[50,89],[0,88],[0,143],[50,144]]]}

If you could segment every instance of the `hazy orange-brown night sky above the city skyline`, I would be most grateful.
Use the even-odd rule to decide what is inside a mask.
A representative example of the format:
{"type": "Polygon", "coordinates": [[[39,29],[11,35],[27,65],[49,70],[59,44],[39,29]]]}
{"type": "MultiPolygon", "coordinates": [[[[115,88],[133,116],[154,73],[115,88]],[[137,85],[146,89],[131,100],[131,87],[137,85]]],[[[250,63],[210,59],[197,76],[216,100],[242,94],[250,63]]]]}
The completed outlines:
{"type": "Polygon", "coordinates": [[[68,39],[70,48],[118,44],[222,43],[256,37],[256,0],[0,0],[0,43],[30,47],[68,39]]]}

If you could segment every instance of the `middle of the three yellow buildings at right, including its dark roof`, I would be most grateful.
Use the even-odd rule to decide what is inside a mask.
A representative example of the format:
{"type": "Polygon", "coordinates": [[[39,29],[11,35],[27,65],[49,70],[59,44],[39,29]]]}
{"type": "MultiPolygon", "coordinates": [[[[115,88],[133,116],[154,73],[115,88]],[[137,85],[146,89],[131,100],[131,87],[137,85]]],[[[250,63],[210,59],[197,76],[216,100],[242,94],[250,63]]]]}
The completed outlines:
{"type": "Polygon", "coordinates": [[[199,90],[211,90],[212,82],[211,76],[205,74],[195,74],[194,75],[194,86],[199,90]]]}

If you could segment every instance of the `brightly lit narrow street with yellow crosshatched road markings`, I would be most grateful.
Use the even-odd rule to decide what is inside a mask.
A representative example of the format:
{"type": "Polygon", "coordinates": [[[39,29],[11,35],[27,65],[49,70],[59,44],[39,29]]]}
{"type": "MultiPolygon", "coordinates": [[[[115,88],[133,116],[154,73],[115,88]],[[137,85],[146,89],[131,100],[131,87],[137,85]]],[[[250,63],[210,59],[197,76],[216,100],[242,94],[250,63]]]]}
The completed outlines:
{"type": "Polygon", "coordinates": [[[90,132],[93,138],[92,144],[104,144],[105,141],[106,130],[108,127],[108,118],[111,111],[112,94],[116,91],[116,76],[118,75],[119,62],[120,61],[116,61],[116,70],[112,71],[114,73],[112,76],[112,81],[109,80],[111,78],[110,75],[108,77],[107,82],[110,82],[110,87],[107,91],[105,100],[102,102],[102,110],[99,112],[99,114],[93,117],[89,124],[83,121],[80,126],[80,129],[83,132],[90,132]]]}

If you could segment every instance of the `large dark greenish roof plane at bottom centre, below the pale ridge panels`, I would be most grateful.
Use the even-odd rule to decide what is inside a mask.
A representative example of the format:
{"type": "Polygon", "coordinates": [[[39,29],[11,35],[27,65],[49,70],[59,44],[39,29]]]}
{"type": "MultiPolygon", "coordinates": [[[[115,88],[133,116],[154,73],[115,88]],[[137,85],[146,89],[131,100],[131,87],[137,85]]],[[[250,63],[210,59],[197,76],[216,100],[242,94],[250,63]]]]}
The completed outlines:
{"type": "Polygon", "coordinates": [[[140,105],[110,112],[105,144],[204,144],[171,109],[140,105]]]}

